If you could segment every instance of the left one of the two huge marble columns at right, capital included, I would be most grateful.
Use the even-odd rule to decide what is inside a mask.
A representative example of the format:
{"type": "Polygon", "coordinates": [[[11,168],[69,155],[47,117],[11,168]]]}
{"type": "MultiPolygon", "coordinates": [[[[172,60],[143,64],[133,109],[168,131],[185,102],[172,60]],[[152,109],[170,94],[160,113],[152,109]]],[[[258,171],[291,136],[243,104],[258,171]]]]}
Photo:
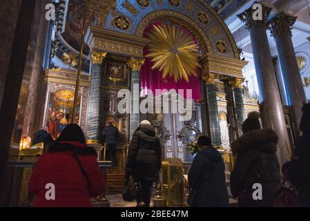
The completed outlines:
{"type": "Polygon", "coordinates": [[[255,70],[262,102],[262,124],[265,128],[272,128],[278,134],[277,155],[280,165],[282,165],[290,160],[291,148],[266,33],[267,19],[271,10],[272,8],[262,5],[261,20],[257,20],[253,16],[253,12],[255,11],[252,7],[238,15],[238,17],[246,23],[246,28],[249,30],[251,36],[255,70]]]}

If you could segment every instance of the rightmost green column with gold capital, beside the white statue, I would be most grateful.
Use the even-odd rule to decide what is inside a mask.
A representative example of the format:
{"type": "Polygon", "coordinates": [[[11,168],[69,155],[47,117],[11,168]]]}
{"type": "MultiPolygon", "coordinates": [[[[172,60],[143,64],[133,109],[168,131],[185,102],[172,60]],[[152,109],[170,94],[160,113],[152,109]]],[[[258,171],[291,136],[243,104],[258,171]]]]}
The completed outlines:
{"type": "Polygon", "coordinates": [[[235,117],[237,118],[237,126],[238,126],[238,135],[242,135],[242,124],[244,122],[244,103],[243,103],[243,94],[242,94],[242,86],[244,79],[242,78],[234,78],[230,81],[231,86],[233,87],[233,102],[235,103],[235,117]]]}

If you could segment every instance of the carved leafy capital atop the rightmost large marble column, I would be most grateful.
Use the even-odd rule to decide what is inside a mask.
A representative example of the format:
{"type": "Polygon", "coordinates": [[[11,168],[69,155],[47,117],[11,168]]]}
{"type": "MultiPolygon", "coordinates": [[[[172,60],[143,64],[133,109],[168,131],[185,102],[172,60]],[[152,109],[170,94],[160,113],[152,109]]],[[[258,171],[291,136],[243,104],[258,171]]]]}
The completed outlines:
{"type": "Polygon", "coordinates": [[[273,37],[279,37],[281,35],[290,35],[293,29],[293,24],[296,22],[297,17],[286,15],[284,12],[280,12],[271,21],[269,21],[269,30],[273,37]]]}

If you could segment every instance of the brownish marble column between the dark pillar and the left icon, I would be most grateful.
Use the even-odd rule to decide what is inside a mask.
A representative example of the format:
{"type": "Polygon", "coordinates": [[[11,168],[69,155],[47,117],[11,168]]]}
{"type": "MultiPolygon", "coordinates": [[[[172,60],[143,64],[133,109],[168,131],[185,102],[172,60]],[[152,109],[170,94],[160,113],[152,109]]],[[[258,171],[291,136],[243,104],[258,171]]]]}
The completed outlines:
{"type": "MultiPolygon", "coordinates": [[[[44,49],[46,46],[46,32],[48,30],[48,21],[45,16],[45,7],[50,0],[40,1],[41,5],[39,6],[39,28],[37,30],[36,38],[36,48],[33,58],[32,71],[30,74],[30,83],[29,83],[29,93],[26,104],[25,116],[23,118],[23,133],[32,137],[35,133],[36,125],[38,123],[37,111],[39,106],[39,95],[41,95],[41,87],[43,86],[43,57],[44,49]]],[[[33,25],[38,25],[38,23],[33,23],[33,25]]]]}

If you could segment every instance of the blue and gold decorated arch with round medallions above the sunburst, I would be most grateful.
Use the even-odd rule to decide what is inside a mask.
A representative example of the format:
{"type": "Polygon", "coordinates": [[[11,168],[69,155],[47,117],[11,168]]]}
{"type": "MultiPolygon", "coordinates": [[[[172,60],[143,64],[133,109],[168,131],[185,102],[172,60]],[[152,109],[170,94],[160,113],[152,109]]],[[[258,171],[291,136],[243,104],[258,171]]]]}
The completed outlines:
{"type": "Polygon", "coordinates": [[[173,19],[183,26],[191,27],[193,35],[204,41],[204,50],[214,55],[240,59],[235,40],[224,21],[204,0],[117,0],[115,12],[106,17],[104,28],[127,35],[142,37],[154,19],[173,19]],[[117,22],[126,23],[119,28],[117,22]]]}

